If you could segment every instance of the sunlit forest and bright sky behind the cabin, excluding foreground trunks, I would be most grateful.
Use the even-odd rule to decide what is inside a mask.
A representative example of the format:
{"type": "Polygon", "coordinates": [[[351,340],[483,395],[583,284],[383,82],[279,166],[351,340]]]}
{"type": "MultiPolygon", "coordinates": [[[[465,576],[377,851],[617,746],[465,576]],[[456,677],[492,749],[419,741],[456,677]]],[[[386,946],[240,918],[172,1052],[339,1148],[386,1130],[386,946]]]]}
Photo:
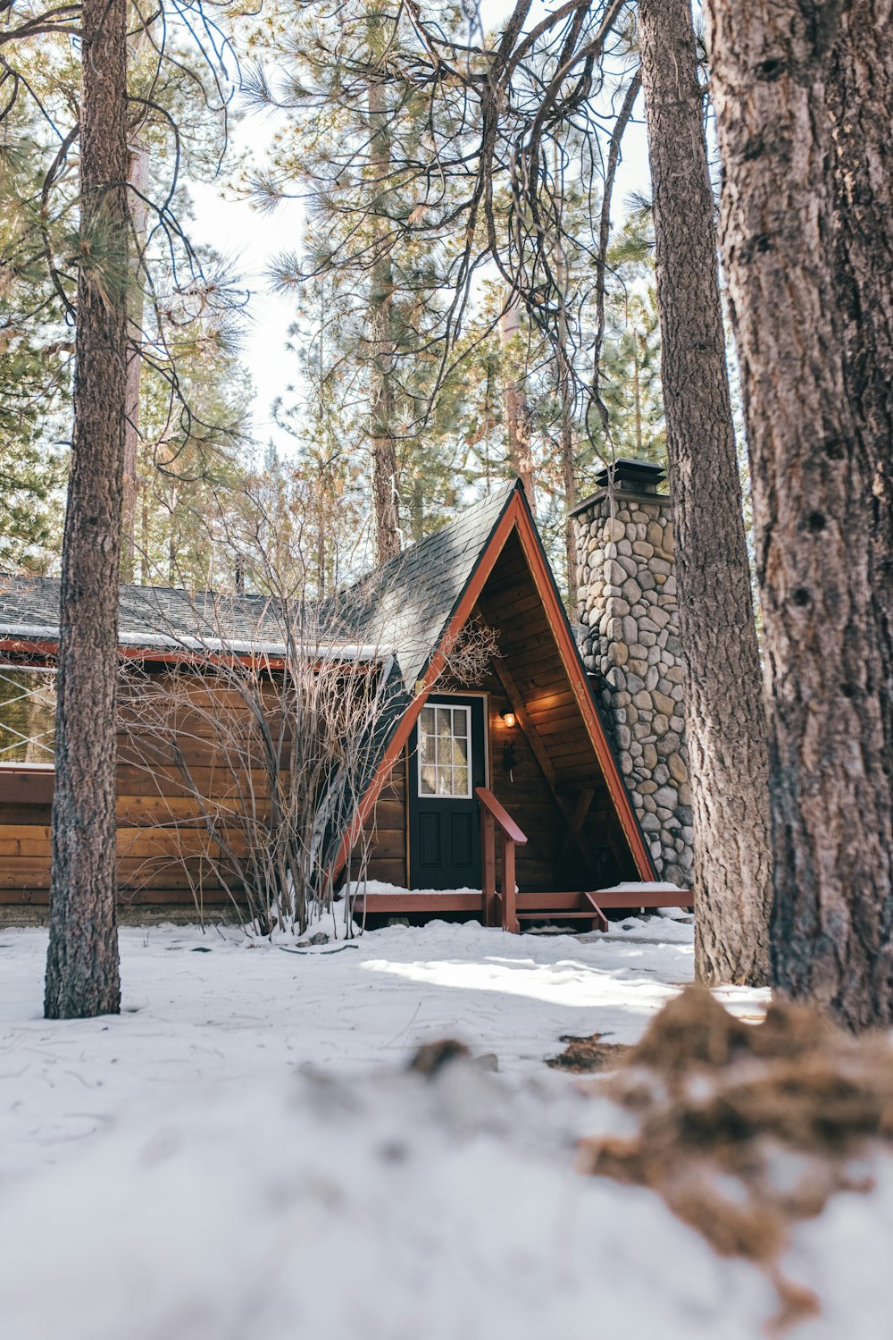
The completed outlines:
{"type": "MultiPolygon", "coordinates": [[[[503,9],[494,3],[482,11],[490,42],[503,9]]],[[[376,115],[372,84],[364,90],[356,79],[343,80],[344,62],[364,42],[374,51],[383,40],[368,34],[374,11],[291,0],[257,15],[226,7],[214,16],[220,27],[210,40],[195,40],[186,19],[170,39],[189,75],[178,80],[169,67],[157,80],[157,121],[175,119],[177,137],[147,126],[146,143],[131,157],[131,172],[151,180],[147,198],[173,182],[174,166],[178,181],[170,218],[150,220],[147,206],[138,224],[147,229],[153,306],[162,315],[150,316],[141,299],[149,358],[137,370],[123,576],[191,588],[244,583],[229,541],[245,498],[262,497],[277,533],[300,552],[308,586],[325,592],[521,474],[573,612],[568,508],[592,490],[602,458],[665,456],[641,94],[625,127],[609,209],[600,355],[605,418],[580,395],[569,413],[566,386],[562,405],[553,343],[532,326],[493,264],[474,275],[453,366],[438,385],[422,370],[420,350],[426,338],[440,336],[434,327],[449,308],[446,267],[455,261],[461,228],[446,247],[422,232],[386,248],[391,273],[383,284],[351,241],[378,226],[376,178],[386,173],[374,157],[391,151],[368,134],[376,115]],[[336,78],[343,80],[337,91],[336,78]],[[347,204],[333,188],[345,169],[347,204]],[[339,230],[339,245],[327,252],[323,240],[339,230]],[[384,308],[391,366],[382,371],[382,346],[374,347],[370,331],[384,308]],[[422,310],[436,312],[427,336],[422,310]],[[376,527],[376,508],[386,507],[375,481],[383,444],[394,452],[394,516],[386,533],[376,527]]],[[[444,15],[457,32],[467,25],[458,11],[444,15]]],[[[76,146],[55,172],[52,163],[76,106],[78,43],[40,34],[25,46],[24,76],[35,96],[19,95],[0,133],[11,169],[1,228],[0,567],[54,575],[74,346],[71,314],[47,273],[40,216],[62,234],[55,247],[64,251],[76,146]]],[[[150,52],[138,51],[135,60],[131,54],[131,80],[141,59],[151,68],[150,52]]],[[[391,122],[384,138],[398,146],[398,170],[396,158],[422,134],[424,109],[414,109],[400,88],[406,67],[392,55],[388,60],[398,74],[383,86],[391,122]]],[[[569,127],[562,145],[566,226],[578,240],[569,269],[582,269],[598,247],[609,138],[635,63],[628,24],[597,99],[598,115],[569,127]]],[[[411,174],[403,172],[396,190],[408,189],[411,174]]],[[[507,234],[507,208],[505,228],[507,234]]],[[[578,275],[568,276],[573,285],[578,275]]],[[[592,284],[580,308],[570,360],[585,382],[596,320],[592,284]]]]}

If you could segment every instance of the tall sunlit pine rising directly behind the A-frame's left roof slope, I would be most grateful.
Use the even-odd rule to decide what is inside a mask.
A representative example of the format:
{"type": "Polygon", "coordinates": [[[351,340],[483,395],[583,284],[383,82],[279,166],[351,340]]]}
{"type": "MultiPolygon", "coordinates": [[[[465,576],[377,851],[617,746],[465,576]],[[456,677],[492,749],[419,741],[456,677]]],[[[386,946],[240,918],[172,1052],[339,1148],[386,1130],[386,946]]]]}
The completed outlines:
{"type": "Polygon", "coordinates": [[[465,465],[463,373],[443,366],[449,229],[418,204],[431,118],[443,127],[449,109],[415,78],[411,27],[396,9],[351,0],[337,16],[288,13],[289,78],[260,92],[289,107],[292,129],[254,194],[309,197],[303,251],[281,257],[277,275],[296,291],[305,331],[325,295],[316,330],[327,332],[327,366],[349,381],[355,470],[368,480],[382,560],[454,504],[465,465]]]}

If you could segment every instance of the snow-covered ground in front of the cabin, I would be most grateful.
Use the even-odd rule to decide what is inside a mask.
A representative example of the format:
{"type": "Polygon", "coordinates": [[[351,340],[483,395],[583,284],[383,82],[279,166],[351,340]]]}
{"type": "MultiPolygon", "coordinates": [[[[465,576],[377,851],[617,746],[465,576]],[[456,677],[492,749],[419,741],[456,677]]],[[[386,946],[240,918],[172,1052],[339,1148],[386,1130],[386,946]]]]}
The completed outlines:
{"type": "MultiPolygon", "coordinates": [[[[565,1033],[635,1041],[691,978],[689,925],[624,925],[301,953],[125,929],[122,1014],[55,1024],[46,934],[1,930],[3,1340],[759,1336],[759,1272],[652,1193],[574,1171],[578,1136],[624,1118],[544,1059],[565,1033]],[[498,1073],[406,1071],[444,1036],[498,1073]]],[[[723,998],[759,1017],[760,993],[723,998]]],[[[791,1273],[823,1312],[797,1337],[890,1335],[882,1178],[798,1230],[791,1273]]]]}

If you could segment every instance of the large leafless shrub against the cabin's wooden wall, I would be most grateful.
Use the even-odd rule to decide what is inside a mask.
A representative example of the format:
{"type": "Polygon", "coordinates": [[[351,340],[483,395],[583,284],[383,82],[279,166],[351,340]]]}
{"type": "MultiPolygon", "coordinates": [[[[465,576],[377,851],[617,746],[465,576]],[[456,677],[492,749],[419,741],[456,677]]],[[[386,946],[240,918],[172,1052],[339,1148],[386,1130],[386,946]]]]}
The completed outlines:
{"type": "MultiPolygon", "coordinates": [[[[210,878],[257,933],[303,934],[331,907],[345,855],[366,876],[375,832],[357,807],[419,686],[404,685],[388,620],[370,618],[399,602],[387,570],[313,600],[295,551],[280,564],[268,535],[256,524],[250,545],[228,536],[257,594],[157,592],[157,641],[177,661],[123,671],[119,754],[189,803],[158,816],[169,840],[155,872],[185,871],[199,911],[210,878]]],[[[406,636],[403,655],[418,650],[406,636]]],[[[495,651],[470,620],[440,646],[426,691],[444,675],[475,681],[495,651]]],[[[348,911],[345,900],[349,934],[348,911]]]]}

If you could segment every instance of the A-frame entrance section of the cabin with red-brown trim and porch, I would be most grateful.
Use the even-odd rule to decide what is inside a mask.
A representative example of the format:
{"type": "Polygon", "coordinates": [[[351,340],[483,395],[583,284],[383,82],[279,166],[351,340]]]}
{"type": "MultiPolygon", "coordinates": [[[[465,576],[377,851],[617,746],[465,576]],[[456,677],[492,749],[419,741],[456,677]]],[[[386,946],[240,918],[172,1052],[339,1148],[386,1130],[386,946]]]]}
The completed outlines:
{"type": "Polygon", "coordinates": [[[656,874],[521,485],[382,572],[390,610],[359,631],[395,646],[406,695],[361,805],[374,891],[357,886],[357,911],[479,914],[481,895],[461,888],[483,888],[485,918],[511,929],[597,921],[596,904],[687,904],[615,887],[656,874]],[[438,681],[470,619],[498,654],[473,685],[438,681]]]}

